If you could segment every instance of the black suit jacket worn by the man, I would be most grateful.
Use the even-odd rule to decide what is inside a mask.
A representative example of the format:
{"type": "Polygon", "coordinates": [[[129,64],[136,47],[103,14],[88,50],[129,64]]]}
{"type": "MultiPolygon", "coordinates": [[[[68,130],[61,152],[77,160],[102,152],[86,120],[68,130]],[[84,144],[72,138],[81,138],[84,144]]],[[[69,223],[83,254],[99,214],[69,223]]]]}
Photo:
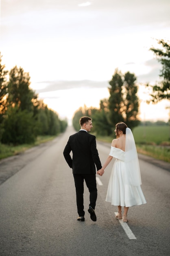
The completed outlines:
{"type": "Polygon", "coordinates": [[[74,174],[92,174],[96,173],[96,168],[102,168],[96,148],[96,137],[86,131],[81,130],[69,137],[63,155],[74,174]]]}

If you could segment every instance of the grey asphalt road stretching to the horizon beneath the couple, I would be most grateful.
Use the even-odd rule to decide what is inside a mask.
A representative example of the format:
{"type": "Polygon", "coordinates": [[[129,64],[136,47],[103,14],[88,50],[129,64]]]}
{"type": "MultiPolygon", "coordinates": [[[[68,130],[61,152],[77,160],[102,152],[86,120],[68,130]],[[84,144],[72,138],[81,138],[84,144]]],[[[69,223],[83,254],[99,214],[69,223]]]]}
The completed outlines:
{"type": "MultiPolygon", "coordinates": [[[[99,177],[97,221],[78,222],[72,170],[63,157],[68,130],[46,144],[0,161],[0,256],[170,255],[170,164],[139,156],[147,204],[131,207],[126,229],[105,202],[113,162],[99,177]]],[[[97,143],[101,162],[108,144],[97,143]]],[[[112,160],[113,161],[113,160],[112,160]]],[[[124,224],[124,223],[123,223],[124,224]]]]}

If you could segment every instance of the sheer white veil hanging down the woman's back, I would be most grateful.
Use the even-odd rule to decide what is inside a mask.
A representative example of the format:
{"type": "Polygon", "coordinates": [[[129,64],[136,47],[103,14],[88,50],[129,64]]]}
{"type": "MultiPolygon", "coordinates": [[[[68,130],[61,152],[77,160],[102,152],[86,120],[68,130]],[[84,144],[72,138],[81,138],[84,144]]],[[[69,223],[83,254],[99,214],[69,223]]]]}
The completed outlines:
{"type": "Polygon", "coordinates": [[[126,128],[125,166],[126,174],[129,174],[130,176],[130,179],[127,180],[129,180],[131,185],[133,186],[140,186],[142,182],[139,161],[137,156],[135,140],[130,128],[126,128]]]}

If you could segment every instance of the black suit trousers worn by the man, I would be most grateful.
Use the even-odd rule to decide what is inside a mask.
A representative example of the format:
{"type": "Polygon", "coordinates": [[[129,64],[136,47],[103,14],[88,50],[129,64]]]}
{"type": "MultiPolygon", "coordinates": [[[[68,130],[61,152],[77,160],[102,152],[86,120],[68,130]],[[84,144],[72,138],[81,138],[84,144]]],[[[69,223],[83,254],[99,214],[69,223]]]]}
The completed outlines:
{"type": "Polygon", "coordinates": [[[96,173],[95,174],[73,174],[74,183],[76,187],[76,202],[77,202],[77,211],[79,216],[84,216],[84,180],[89,189],[90,193],[90,203],[89,205],[95,209],[96,199],[97,199],[97,186],[96,186],[96,173]]]}

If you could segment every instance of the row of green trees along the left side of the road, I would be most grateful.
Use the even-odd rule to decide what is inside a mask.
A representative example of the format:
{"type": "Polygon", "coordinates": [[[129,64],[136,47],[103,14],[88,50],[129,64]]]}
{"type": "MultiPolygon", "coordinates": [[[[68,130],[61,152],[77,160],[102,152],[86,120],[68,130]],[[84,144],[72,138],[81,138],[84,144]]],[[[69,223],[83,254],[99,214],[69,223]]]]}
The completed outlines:
{"type": "Polygon", "coordinates": [[[7,71],[0,54],[1,143],[30,144],[38,135],[57,135],[68,125],[38,99],[30,84],[29,73],[17,66],[7,71]]]}

